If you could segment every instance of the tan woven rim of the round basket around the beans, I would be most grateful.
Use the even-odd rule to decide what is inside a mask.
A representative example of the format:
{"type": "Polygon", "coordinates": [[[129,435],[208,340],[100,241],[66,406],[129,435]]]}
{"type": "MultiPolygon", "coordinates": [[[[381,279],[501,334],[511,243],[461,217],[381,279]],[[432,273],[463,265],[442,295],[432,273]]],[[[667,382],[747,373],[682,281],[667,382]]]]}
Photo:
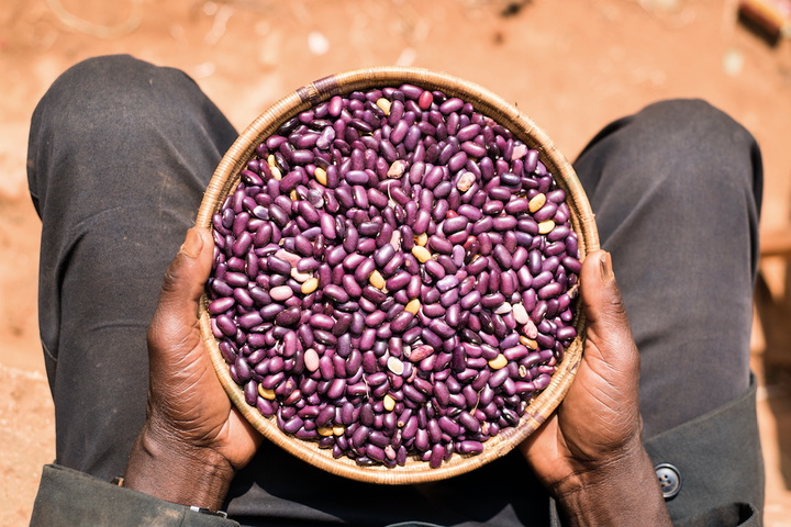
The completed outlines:
{"type": "MultiPolygon", "coordinates": [[[[472,102],[476,111],[510,128],[514,136],[528,147],[538,149],[541,161],[567,193],[571,224],[579,236],[581,257],[584,258],[586,254],[599,248],[593,214],[577,175],[542,130],[515,106],[478,85],[442,72],[406,67],[364,68],[333,75],[304,86],[275,103],[242,133],[220,161],[201,203],[196,225],[211,227],[212,215],[220,210],[226,195],[235,190],[239,181],[239,171],[254,156],[256,146],[275,133],[280,124],[333,96],[386,86],[398,87],[405,82],[428,90],[441,90],[448,97],[458,97],[472,102]]],[[[503,429],[500,435],[489,439],[484,444],[482,453],[478,456],[454,453],[437,469],[432,469],[427,462],[412,458],[404,467],[360,467],[346,457],[333,458],[332,449],[323,450],[315,442],[283,434],[274,418],[261,416],[256,408],[246,404],[244,393],[232,380],[227,365],[212,335],[205,305],[204,296],[200,313],[203,339],[220,381],[242,414],[265,437],[298,458],[333,474],[368,483],[412,484],[442,480],[468,472],[506,455],[538,428],[562,401],[580,363],[584,341],[584,319],[578,314],[575,321],[578,336],[566,350],[549,385],[532,401],[520,425],[503,429]]]]}

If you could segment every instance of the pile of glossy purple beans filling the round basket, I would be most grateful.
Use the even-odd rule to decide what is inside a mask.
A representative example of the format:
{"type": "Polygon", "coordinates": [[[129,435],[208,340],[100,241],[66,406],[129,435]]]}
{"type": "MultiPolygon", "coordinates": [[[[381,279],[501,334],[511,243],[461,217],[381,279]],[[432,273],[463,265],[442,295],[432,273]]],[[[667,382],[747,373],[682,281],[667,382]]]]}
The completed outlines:
{"type": "Polygon", "coordinates": [[[208,311],[247,404],[360,464],[476,455],[576,337],[565,192],[469,102],[333,97],[213,216],[208,311]]]}

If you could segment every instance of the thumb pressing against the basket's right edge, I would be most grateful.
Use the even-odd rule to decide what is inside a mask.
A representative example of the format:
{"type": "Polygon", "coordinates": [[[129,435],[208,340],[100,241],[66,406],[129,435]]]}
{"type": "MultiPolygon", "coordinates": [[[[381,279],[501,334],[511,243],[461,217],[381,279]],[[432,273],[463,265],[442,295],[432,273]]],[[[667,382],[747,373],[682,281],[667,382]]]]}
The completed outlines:
{"type": "Polygon", "coordinates": [[[580,292],[587,319],[586,357],[598,363],[594,368],[604,367],[614,370],[610,374],[631,377],[636,393],[639,355],[609,253],[597,250],[588,255],[580,273],[580,292]]]}

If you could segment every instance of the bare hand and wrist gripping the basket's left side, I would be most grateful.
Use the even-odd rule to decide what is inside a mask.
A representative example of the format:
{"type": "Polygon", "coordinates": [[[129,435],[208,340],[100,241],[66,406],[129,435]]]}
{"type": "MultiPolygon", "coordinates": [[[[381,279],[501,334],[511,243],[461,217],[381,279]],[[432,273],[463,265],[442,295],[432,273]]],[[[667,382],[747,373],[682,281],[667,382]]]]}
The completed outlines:
{"type": "Polygon", "coordinates": [[[124,486],[159,498],[218,509],[261,437],[233,407],[203,344],[198,303],[212,265],[208,231],[193,227],[163,281],[148,328],[146,423],[124,486]]]}

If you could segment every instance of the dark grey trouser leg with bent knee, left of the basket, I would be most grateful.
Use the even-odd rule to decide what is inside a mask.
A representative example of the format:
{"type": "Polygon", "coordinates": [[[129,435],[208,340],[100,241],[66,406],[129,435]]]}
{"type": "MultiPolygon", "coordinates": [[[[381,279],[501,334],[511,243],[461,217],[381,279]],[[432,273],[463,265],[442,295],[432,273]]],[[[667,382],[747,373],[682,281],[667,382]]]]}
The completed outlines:
{"type": "Polygon", "coordinates": [[[27,170],[58,463],[123,474],[163,274],[235,137],[186,75],[130,56],[78,64],[36,108],[27,170]]]}

